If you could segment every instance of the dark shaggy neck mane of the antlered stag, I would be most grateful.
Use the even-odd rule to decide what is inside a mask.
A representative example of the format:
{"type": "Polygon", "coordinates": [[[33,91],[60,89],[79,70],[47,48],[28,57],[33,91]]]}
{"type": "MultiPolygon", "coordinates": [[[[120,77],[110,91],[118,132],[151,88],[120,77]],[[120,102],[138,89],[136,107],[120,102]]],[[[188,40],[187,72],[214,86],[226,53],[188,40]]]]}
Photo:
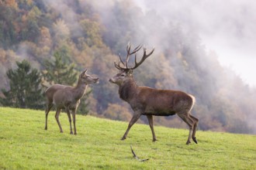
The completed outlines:
{"type": "Polygon", "coordinates": [[[127,102],[133,99],[137,93],[137,84],[131,77],[129,80],[119,86],[119,97],[127,102]]]}

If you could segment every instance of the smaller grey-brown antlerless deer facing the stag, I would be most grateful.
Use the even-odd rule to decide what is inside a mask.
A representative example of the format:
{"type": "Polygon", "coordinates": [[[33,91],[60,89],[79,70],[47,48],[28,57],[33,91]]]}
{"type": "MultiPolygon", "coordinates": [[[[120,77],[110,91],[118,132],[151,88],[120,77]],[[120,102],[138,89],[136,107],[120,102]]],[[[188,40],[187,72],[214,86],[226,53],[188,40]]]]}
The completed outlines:
{"type": "Polygon", "coordinates": [[[77,134],[77,131],[75,128],[75,114],[76,114],[78,105],[80,104],[80,99],[81,97],[84,96],[88,84],[99,82],[99,78],[90,76],[86,72],[87,70],[83,71],[80,74],[78,79],[78,84],[76,87],[64,86],[61,84],[54,84],[53,86],[47,88],[47,90],[45,91],[45,95],[47,98],[47,108],[45,110],[45,116],[46,116],[45,130],[47,130],[47,117],[48,117],[50,108],[55,106],[56,107],[55,118],[56,118],[57,124],[59,125],[61,133],[63,131],[59,121],[59,115],[61,114],[61,110],[65,109],[67,111],[67,117],[70,123],[71,134],[73,134],[72,125],[71,125],[71,114],[73,117],[74,134],[77,134]]]}

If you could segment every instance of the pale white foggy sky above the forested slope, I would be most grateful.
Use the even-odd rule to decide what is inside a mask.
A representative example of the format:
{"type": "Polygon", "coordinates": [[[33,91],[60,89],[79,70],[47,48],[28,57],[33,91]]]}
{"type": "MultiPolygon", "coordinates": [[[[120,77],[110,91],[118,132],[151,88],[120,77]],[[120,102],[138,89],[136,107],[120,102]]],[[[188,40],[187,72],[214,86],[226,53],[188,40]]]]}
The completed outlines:
{"type": "Polygon", "coordinates": [[[198,31],[206,51],[213,50],[256,87],[256,1],[254,0],[138,0],[144,10],[154,9],[164,19],[198,31]]]}

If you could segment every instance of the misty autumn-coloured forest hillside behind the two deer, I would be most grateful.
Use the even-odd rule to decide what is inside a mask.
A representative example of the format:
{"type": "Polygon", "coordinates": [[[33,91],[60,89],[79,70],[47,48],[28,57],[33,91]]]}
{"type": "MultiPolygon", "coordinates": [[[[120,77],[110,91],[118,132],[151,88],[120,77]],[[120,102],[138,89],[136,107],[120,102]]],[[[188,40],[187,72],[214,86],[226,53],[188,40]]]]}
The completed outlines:
{"type": "MultiPolygon", "coordinates": [[[[214,51],[206,53],[198,30],[166,22],[133,0],[0,0],[0,106],[40,109],[43,116],[43,91],[54,83],[74,86],[86,68],[100,81],[78,112],[130,121],[130,105],[108,81],[128,42],[155,48],[133,71],[137,84],[194,95],[199,130],[256,134],[255,87],[221,66],[214,51]]],[[[154,124],[187,128],[177,116],[154,117],[154,124]]]]}

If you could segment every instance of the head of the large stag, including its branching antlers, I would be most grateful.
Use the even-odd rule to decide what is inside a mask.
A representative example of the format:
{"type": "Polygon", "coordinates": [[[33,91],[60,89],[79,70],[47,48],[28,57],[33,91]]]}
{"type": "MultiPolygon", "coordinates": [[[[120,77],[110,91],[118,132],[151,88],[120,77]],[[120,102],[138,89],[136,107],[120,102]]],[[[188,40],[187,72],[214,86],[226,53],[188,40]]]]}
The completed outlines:
{"type": "Polygon", "coordinates": [[[116,76],[113,76],[112,78],[109,79],[109,82],[111,83],[116,83],[117,85],[122,85],[123,83],[125,83],[127,80],[130,80],[130,78],[132,78],[133,76],[133,70],[135,70],[138,66],[140,66],[140,64],[142,64],[144,62],[145,59],[147,59],[148,56],[150,56],[153,52],[154,49],[152,49],[152,51],[150,51],[150,53],[147,54],[147,49],[144,49],[144,53],[142,58],[140,59],[140,62],[137,63],[137,52],[142,48],[142,46],[137,46],[135,49],[133,49],[133,51],[130,51],[130,43],[128,43],[128,45],[126,46],[126,61],[124,62],[121,59],[121,56],[119,55],[119,63],[114,62],[116,69],[119,70],[119,73],[116,74],[116,76]],[[131,55],[135,56],[135,66],[130,67],[128,66],[128,62],[129,62],[129,58],[131,55]]]}

